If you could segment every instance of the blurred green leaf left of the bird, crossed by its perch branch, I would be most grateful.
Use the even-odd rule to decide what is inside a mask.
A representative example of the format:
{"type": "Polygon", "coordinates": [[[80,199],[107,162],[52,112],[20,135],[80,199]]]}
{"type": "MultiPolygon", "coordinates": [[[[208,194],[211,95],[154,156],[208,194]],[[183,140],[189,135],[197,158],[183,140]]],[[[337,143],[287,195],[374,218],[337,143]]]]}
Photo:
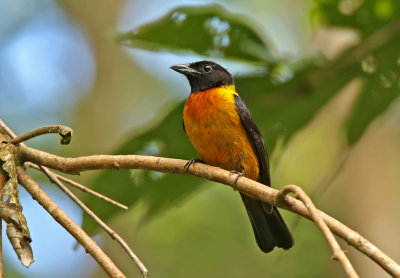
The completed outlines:
{"type": "MultiPolygon", "coordinates": [[[[181,159],[196,156],[190,141],[183,131],[183,105],[177,107],[151,131],[134,136],[116,154],[142,154],[181,159]]],[[[188,175],[162,174],[144,170],[102,171],[96,178],[93,189],[102,192],[129,207],[143,201],[144,217],[154,216],[164,209],[176,205],[188,194],[199,188],[201,179],[188,175]]],[[[122,211],[105,204],[97,198],[86,196],[85,203],[103,220],[122,211]]],[[[93,233],[98,225],[87,215],[83,227],[93,233]]]]}

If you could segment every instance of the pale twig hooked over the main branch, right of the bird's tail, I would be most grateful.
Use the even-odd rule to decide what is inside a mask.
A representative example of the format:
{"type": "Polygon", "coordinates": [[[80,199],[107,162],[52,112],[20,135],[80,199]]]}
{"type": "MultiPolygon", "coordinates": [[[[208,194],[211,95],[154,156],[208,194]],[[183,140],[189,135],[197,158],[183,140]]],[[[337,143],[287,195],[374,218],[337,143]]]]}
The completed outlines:
{"type": "Polygon", "coordinates": [[[345,255],[344,251],[342,248],[340,248],[338,242],[336,241],[335,237],[333,236],[331,230],[329,230],[328,226],[326,225],[324,219],[322,218],[322,215],[319,213],[317,208],[314,206],[313,202],[311,201],[310,197],[307,196],[307,194],[297,185],[286,185],[283,187],[280,191],[281,198],[285,199],[286,195],[289,193],[294,193],[295,196],[300,199],[306,208],[308,209],[311,218],[315,222],[315,224],[318,226],[318,228],[321,230],[322,234],[325,236],[326,240],[328,241],[329,245],[332,248],[333,251],[333,256],[332,258],[334,260],[338,260],[348,277],[350,278],[359,278],[358,274],[354,270],[352,264],[350,263],[349,259],[345,255]]]}

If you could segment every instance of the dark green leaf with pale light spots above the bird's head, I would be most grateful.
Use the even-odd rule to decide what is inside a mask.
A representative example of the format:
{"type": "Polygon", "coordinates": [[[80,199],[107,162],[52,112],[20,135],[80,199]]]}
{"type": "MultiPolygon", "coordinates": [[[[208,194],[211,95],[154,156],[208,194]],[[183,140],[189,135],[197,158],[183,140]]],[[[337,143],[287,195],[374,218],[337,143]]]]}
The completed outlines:
{"type": "Polygon", "coordinates": [[[116,39],[134,48],[193,51],[200,55],[266,61],[271,59],[265,37],[250,20],[218,5],[180,7],[148,25],[116,39]]]}

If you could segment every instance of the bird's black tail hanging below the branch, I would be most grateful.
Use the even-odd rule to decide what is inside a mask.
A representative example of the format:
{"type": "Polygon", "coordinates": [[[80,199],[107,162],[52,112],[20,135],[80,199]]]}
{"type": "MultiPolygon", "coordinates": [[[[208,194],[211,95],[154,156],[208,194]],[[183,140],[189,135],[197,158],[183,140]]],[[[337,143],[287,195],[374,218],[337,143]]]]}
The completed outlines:
{"type": "Polygon", "coordinates": [[[249,215],[257,244],[263,252],[268,253],[274,247],[289,249],[294,245],[293,236],[276,207],[271,209],[269,204],[240,195],[249,215]]]}

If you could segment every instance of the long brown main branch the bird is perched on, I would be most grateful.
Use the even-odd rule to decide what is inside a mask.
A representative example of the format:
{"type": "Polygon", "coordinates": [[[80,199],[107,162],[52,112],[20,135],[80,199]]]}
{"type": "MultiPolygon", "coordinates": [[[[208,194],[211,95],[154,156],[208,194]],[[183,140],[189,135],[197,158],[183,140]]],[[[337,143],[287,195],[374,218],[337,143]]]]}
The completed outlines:
{"type": "MultiPolygon", "coordinates": [[[[308,219],[312,219],[304,204],[290,196],[283,200],[278,190],[260,184],[256,181],[241,177],[236,183],[236,177],[229,171],[217,167],[196,163],[185,171],[186,160],[162,158],[142,155],[92,155],[76,158],[64,158],[26,146],[16,147],[16,154],[21,161],[30,161],[35,164],[62,171],[64,173],[79,174],[82,171],[98,169],[146,169],[159,172],[190,174],[202,178],[230,185],[236,190],[252,198],[262,200],[283,209],[290,210],[308,219]]],[[[400,266],[389,256],[379,250],[371,242],[351,230],[338,220],[318,210],[330,230],[344,239],[349,245],[364,253],[393,277],[400,277],[400,266]]]]}

